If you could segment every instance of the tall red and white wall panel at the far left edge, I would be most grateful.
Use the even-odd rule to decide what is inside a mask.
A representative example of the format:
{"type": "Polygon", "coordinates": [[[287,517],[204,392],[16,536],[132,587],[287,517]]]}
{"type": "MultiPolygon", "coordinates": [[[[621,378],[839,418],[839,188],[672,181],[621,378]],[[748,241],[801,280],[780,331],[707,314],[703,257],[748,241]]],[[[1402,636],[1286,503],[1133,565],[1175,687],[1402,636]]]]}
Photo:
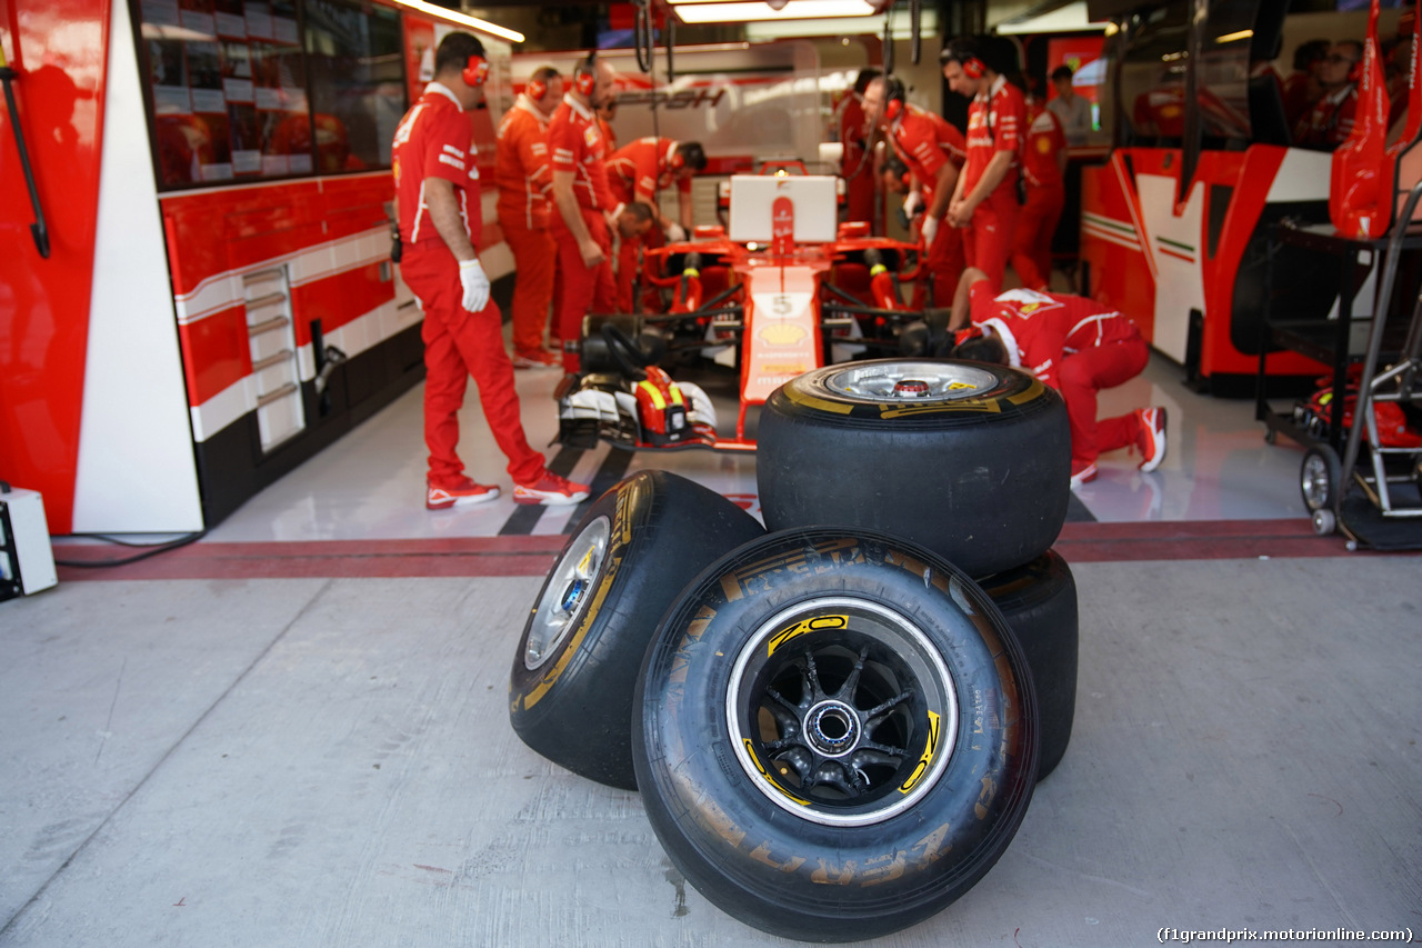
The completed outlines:
{"type": "Polygon", "coordinates": [[[0,478],[40,491],[57,534],[196,530],[127,9],[0,0],[0,44],[18,74],[53,243],[41,259],[11,117],[0,114],[0,478]],[[118,239],[97,241],[101,229],[118,239]]]}

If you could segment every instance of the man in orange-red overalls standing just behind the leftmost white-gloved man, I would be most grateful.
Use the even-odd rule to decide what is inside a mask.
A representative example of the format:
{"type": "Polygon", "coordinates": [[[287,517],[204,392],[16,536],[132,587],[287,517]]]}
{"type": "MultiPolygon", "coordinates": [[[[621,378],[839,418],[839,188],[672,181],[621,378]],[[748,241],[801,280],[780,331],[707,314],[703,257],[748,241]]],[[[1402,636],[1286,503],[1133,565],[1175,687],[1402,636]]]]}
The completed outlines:
{"type": "Polygon", "coordinates": [[[547,120],[562,98],[563,78],[555,67],[540,65],[499,124],[493,184],[499,189],[499,226],[513,252],[515,369],[563,364],[543,347],[557,263],[557,243],[547,232],[547,195],[553,186],[547,120]]]}

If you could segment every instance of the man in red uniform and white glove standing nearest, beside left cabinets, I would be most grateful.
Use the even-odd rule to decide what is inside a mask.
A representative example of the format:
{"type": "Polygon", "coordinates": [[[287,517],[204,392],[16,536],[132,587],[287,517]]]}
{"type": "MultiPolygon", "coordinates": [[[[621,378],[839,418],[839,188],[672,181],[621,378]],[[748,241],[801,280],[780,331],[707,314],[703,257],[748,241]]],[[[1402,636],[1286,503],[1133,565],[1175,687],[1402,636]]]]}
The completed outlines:
{"type": "Polygon", "coordinates": [[[513,366],[503,350],[503,317],[489,300],[479,265],[479,169],[466,111],[483,97],[489,64],[471,33],[449,33],[435,50],[435,78],[395,128],[391,167],[405,283],[425,310],[425,507],[491,501],[499,488],[464,473],[459,407],[469,376],[499,450],[508,457],[516,504],[576,504],[587,498],[543,465],[519,418],[513,366]]]}

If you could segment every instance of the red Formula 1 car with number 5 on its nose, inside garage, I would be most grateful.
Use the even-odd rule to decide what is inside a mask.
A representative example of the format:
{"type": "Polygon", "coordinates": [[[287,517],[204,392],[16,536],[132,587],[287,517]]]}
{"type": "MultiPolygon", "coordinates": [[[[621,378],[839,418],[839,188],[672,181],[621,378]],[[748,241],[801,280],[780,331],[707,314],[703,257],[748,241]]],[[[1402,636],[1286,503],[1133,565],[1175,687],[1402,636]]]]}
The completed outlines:
{"type": "Polygon", "coordinates": [[[747,410],[786,380],[865,353],[936,354],[947,313],[907,309],[899,293],[919,278],[923,246],[836,226],[832,177],[801,162],[766,171],[732,177],[729,233],[698,226],[648,252],[670,273],[651,278],[673,293],[665,315],[583,320],[580,369],[556,391],[562,444],[754,451],[747,410]],[[718,433],[700,386],[663,367],[688,356],[738,367],[734,437],[718,433]]]}

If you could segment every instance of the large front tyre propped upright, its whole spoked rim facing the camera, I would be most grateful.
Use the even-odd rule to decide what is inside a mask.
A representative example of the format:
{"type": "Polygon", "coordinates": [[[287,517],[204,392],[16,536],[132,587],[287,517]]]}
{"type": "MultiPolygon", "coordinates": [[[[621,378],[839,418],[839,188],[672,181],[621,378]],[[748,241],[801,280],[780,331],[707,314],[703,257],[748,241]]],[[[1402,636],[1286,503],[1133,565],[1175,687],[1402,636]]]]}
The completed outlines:
{"type": "Polygon", "coordinates": [[[855,941],[973,887],[1032,796],[1031,676],[993,601],[875,531],[791,530],[708,567],[647,649],[643,804],[734,918],[855,941]]]}

